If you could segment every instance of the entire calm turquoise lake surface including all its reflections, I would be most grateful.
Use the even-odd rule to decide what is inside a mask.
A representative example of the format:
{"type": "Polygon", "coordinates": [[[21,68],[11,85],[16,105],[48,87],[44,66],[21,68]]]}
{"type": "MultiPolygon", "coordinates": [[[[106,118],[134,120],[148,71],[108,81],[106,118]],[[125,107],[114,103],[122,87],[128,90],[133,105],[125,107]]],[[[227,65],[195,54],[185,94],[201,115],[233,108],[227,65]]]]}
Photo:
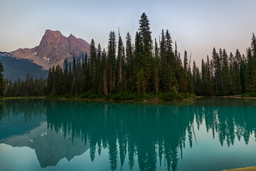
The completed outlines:
{"type": "Polygon", "coordinates": [[[224,170],[256,165],[256,100],[9,100],[0,170],[224,170]]]}

